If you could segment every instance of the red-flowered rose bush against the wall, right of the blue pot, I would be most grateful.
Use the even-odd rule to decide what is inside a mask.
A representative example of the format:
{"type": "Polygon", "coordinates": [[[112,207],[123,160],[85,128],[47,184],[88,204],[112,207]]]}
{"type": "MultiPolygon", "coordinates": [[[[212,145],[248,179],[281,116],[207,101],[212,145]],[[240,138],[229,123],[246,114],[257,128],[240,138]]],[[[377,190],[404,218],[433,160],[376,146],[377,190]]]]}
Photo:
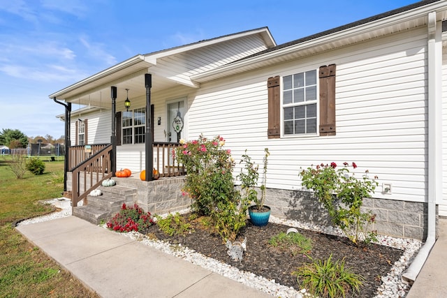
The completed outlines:
{"type": "MultiPolygon", "coordinates": [[[[376,241],[376,232],[369,232],[369,225],[374,223],[375,214],[362,212],[364,198],[371,198],[371,193],[378,186],[376,179],[368,177],[368,170],[360,179],[349,173],[349,163],[338,167],[332,162],[330,165],[316,165],[300,172],[302,186],[314,191],[318,201],[328,211],[332,223],[339,227],[346,237],[355,244],[359,241],[369,243],[376,241]]],[[[356,163],[351,163],[356,169],[356,163]]]]}

